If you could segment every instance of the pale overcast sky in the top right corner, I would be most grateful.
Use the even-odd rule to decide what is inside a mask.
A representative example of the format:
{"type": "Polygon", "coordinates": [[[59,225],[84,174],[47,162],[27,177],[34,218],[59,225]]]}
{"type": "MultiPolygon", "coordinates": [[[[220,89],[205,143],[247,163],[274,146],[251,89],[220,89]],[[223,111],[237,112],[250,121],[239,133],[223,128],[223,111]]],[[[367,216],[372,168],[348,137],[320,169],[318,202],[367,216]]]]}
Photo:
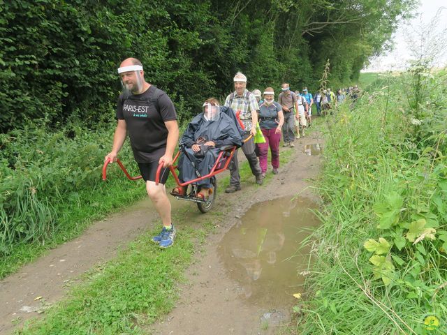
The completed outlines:
{"type": "MultiPolygon", "coordinates": [[[[402,70],[408,65],[411,57],[411,45],[418,43],[418,32],[423,31],[424,26],[430,25],[437,11],[441,9],[441,15],[432,31],[432,36],[441,34],[444,30],[444,43],[447,43],[447,1],[446,0],[420,0],[420,6],[416,10],[416,17],[410,22],[402,22],[399,29],[393,35],[394,50],[389,54],[371,59],[371,64],[366,71],[402,70]]],[[[439,36],[440,37],[440,36],[439,36]]],[[[441,38],[441,37],[440,37],[441,38]]],[[[440,45],[441,43],[439,43],[440,45]]],[[[444,44],[445,45],[445,44],[444,44]]],[[[447,45],[443,52],[436,52],[437,62],[435,66],[447,65],[447,45]]]]}

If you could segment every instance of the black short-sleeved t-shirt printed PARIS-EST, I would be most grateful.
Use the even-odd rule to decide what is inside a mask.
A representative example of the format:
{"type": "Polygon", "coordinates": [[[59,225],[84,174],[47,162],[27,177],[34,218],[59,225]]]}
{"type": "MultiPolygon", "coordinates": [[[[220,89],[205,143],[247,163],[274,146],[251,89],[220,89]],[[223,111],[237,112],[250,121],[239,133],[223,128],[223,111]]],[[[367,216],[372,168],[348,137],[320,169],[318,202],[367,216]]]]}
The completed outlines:
{"type": "Polygon", "coordinates": [[[168,95],[151,85],[142,94],[119,96],[116,118],[126,121],[135,161],[150,163],[165,153],[168,140],[165,121],[176,120],[177,114],[168,95]]]}

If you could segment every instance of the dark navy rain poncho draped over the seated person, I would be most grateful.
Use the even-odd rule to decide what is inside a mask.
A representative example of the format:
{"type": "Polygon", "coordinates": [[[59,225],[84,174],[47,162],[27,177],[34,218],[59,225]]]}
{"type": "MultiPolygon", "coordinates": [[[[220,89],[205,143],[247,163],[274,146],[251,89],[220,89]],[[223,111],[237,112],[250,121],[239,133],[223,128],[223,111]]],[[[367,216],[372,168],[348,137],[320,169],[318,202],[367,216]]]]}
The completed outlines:
{"type": "MultiPolygon", "coordinates": [[[[233,110],[228,107],[220,107],[220,111],[219,117],[214,121],[207,121],[203,117],[203,113],[200,113],[194,117],[186,128],[180,143],[184,144],[188,157],[182,154],[179,158],[178,169],[181,181],[190,181],[198,178],[191,161],[196,165],[200,176],[205,176],[210,173],[212,166],[216,163],[219,147],[225,145],[240,147],[242,145],[242,131],[237,126],[233,110]],[[194,156],[194,151],[191,149],[192,145],[196,144],[198,137],[205,137],[206,141],[212,141],[216,144],[214,148],[209,147],[202,158],[194,156]]],[[[209,178],[198,181],[195,184],[205,188],[211,187],[209,178]]]]}

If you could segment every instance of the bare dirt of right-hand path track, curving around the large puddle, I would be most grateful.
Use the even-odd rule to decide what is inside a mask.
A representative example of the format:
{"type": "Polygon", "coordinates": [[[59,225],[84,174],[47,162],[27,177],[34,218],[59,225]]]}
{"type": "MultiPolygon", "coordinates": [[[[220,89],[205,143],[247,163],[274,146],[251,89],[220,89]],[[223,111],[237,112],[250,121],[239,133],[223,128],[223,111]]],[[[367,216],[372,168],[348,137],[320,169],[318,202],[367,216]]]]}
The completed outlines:
{"type": "MultiPolygon", "coordinates": [[[[281,328],[291,318],[290,311],[295,298],[289,295],[288,299],[282,296],[278,296],[276,300],[274,297],[263,299],[262,295],[277,294],[271,288],[266,288],[265,292],[257,292],[256,297],[254,290],[258,282],[247,286],[247,281],[237,278],[240,276],[233,276],[232,271],[235,269],[231,266],[228,268],[228,254],[225,256],[221,251],[228,243],[223,239],[233,239],[234,235],[228,237],[228,231],[235,225],[240,225],[244,213],[260,202],[265,206],[269,200],[281,198],[288,201],[300,193],[300,202],[305,206],[309,204],[309,207],[315,207],[318,199],[309,188],[309,179],[316,177],[319,172],[318,154],[322,149],[321,139],[315,133],[296,140],[291,160],[279,169],[279,174],[267,185],[261,188],[242,185],[242,191],[219,195],[217,207],[225,216],[219,219],[215,233],[207,238],[200,260],[189,269],[189,284],[182,288],[177,306],[161,322],[148,327],[148,334],[280,334],[281,328]]],[[[268,173],[272,173],[271,167],[268,173]]],[[[303,215],[307,215],[307,218],[309,216],[303,215]]],[[[278,219],[281,220],[281,217],[278,219]]],[[[258,277],[254,274],[256,270],[253,267],[245,267],[245,270],[249,276],[258,277]]],[[[279,279],[274,281],[277,283],[279,279]]],[[[296,292],[299,292],[298,288],[296,292]]]]}

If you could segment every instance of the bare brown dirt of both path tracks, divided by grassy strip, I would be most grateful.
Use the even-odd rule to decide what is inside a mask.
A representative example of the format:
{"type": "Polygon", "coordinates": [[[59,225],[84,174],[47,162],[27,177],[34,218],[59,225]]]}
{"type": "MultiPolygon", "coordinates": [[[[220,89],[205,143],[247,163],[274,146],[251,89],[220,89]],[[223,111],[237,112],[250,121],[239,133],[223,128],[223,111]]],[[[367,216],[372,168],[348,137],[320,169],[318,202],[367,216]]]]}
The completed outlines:
{"type": "MultiPolygon", "coordinates": [[[[290,318],[291,301],[281,306],[281,311],[274,309],[275,312],[270,313],[272,308],[244,299],[246,290],[223,265],[219,242],[253,204],[297,193],[314,199],[305,179],[318,174],[320,156],[316,156],[318,152],[312,146],[316,143],[321,143],[317,135],[296,140],[295,148],[290,149],[293,155],[289,163],[281,166],[279,174],[268,184],[256,187],[254,180],[246,180],[242,181],[242,191],[219,193],[213,210],[220,211],[221,215],[213,217],[214,234],[207,238],[198,262],[186,274],[188,284],[182,285],[177,307],[161,322],[148,327],[148,334],[273,334],[275,327],[272,325],[290,318]],[[262,315],[271,315],[267,329],[260,322],[262,315]]],[[[271,167],[268,173],[271,173],[271,167]]],[[[219,186],[224,187],[223,184],[219,186]]],[[[180,211],[187,216],[186,223],[177,223],[179,230],[188,222],[200,225],[210,220],[207,214],[198,214],[193,204],[174,199],[171,203],[174,218],[180,211]],[[186,214],[185,207],[191,207],[186,214]]],[[[64,297],[85,271],[114,258],[119,248],[157,224],[152,204],[144,200],[92,225],[78,239],[49,251],[36,262],[3,279],[0,282],[0,334],[11,334],[25,320],[38,316],[45,306],[64,297]]]]}

